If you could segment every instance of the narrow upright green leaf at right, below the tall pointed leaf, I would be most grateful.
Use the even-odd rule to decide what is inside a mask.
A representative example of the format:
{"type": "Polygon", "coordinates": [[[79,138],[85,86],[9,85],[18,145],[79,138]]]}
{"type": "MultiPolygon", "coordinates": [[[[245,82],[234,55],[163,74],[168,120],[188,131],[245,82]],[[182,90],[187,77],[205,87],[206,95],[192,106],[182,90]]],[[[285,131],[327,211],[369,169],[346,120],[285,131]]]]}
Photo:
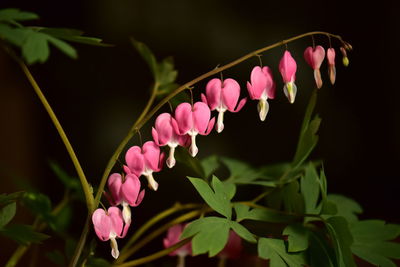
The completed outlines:
{"type": "Polygon", "coordinates": [[[306,167],[306,172],[301,179],[301,194],[304,198],[305,213],[319,214],[317,208],[320,193],[320,182],[317,170],[312,163],[306,167]]]}

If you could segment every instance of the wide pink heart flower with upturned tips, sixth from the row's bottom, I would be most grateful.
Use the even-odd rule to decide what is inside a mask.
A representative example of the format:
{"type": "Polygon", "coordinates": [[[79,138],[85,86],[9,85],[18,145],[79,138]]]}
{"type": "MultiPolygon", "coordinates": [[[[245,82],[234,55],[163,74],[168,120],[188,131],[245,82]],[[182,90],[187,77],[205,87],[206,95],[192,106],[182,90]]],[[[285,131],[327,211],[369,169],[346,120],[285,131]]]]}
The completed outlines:
{"type": "Polygon", "coordinates": [[[240,85],[234,79],[226,79],[223,82],[214,78],[207,83],[206,96],[201,94],[201,99],[211,110],[218,111],[216,130],[218,133],[224,129],[224,112],[238,112],[246,104],[246,98],[240,100],[240,85]],[[235,109],[236,107],[236,109],[235,109]]]}

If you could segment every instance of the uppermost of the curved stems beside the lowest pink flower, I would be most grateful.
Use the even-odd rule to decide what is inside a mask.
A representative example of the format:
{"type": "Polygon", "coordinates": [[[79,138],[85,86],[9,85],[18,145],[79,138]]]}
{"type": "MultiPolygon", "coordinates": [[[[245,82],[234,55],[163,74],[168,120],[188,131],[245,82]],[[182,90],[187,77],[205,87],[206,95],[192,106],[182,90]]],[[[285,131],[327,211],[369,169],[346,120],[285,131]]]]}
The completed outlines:
{"type": "Polygon", "coordinates": [[[135,234],[129,239],[129,241],[125,244],[124,248],[121,250],[121,255],[125,253],[125,251],[136,241],[138,240],[139,237],[142,236],[144,232],[147,231],[151,226],[156,224],[157,222],[161,221],[162,219],[170,216],[173,213],[176,213],[178,211],[182,211],[185,209],[193,209],[193,208],[199,208],[202,207],[202,204],[180,204],[176,203],[173,205],[171,208],[164,210],[163,212],[157,214],[153,218],[151,218],[149,221],[147,221],[142,227],[140,227],[135,234]]]}

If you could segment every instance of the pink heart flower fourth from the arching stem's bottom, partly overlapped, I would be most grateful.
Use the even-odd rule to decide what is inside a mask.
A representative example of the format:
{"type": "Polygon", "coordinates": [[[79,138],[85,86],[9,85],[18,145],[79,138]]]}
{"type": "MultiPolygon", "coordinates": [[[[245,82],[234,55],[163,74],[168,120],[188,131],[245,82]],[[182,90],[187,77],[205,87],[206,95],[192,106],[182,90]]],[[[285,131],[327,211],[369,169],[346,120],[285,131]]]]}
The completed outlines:
{"type": "Polygon", "coordinates": [[[178,145],[188,146],[190,139],[188,135],[178,135],[173,126],[172,121],[175,119],[169,113],[160,114],[155,123],[155,128],[152,128],[154,142],[158,146],[169,146],[169,156],[167,158],[167,166],[172,168],[175,166],[176,160],[174,157],[175,148],[178,145]]]}

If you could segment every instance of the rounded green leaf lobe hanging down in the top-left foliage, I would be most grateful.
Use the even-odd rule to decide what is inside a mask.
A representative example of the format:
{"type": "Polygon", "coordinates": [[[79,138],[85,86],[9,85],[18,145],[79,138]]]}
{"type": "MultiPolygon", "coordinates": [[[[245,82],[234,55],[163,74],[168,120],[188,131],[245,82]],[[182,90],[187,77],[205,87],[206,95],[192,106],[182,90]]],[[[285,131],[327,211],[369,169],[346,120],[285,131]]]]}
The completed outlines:
{"type": "Polygon", "coordinates": [[[43,63],[49,57],[49,45],[47,44],[47,35],[30,31],[27,39],[22,45],[22,55],[28,64],[36,62],[43,63]]]}

